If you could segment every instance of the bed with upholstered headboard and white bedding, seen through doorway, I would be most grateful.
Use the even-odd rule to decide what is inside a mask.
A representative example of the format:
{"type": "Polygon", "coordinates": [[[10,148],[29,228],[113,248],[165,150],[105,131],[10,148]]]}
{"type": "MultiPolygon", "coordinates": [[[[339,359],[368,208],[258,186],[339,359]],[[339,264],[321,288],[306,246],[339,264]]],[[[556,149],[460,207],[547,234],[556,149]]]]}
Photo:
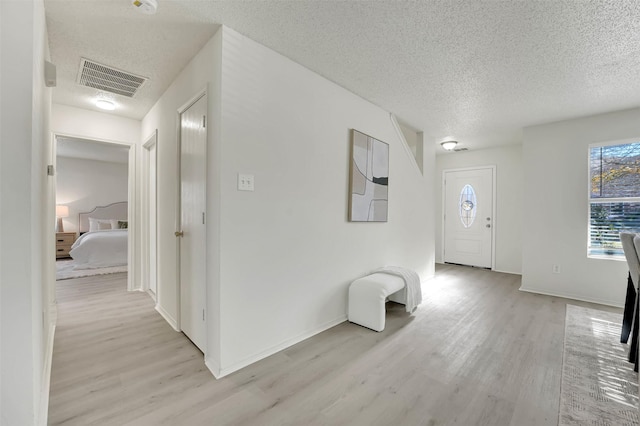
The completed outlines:
{"type": "Polygon", "coordinates": [[[74,269],[107,268],[127,264],[128,205],[126,201],[98,206],[78,215],[80,237],[69,255],[74,269]]]}

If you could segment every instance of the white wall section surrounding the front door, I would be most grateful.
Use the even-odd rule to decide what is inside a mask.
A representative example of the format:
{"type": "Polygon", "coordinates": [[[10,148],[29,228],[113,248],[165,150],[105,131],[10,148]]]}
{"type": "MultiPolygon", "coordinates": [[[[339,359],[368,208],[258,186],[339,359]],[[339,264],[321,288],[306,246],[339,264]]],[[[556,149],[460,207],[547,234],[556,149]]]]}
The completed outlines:
{"type": "Polygon", "coordinates": [[[436,262],[442,260],[442,172],[480,166],[496,166],[496,209],[494,226],[495,270],[522,273],[522,145],[436,156],[436,262]]]}

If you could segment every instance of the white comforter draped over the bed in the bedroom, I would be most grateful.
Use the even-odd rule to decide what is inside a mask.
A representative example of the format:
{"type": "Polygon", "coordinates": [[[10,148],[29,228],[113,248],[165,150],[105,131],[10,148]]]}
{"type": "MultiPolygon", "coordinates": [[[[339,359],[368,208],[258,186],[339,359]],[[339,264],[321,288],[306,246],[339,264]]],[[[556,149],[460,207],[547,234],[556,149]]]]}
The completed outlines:
{"type": "Polygon", "coordinates": [[[74,269],[106,268],[127,264],[127,230],[105,229],[82,234],[71,246],[74,269]]]}

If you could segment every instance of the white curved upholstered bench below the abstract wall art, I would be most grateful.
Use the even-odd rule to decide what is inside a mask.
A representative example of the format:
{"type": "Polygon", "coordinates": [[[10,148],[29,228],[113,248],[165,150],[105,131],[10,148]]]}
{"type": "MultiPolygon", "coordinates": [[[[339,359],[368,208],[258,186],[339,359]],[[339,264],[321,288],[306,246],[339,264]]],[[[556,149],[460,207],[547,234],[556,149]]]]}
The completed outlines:
{"type": "Polygon", "coordinates": [[[384,330],[384,304],[387,297],[404,287],[405,282],[401,277],[383,273],[353,281],[349,286],[349,321],[375,331],[384,330]]]}

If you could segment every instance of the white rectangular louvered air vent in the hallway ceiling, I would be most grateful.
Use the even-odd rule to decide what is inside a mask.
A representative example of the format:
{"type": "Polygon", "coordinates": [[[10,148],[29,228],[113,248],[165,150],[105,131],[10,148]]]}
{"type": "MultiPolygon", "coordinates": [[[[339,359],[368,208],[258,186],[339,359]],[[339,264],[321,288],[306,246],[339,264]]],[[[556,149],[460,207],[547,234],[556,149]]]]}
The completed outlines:
{"type": "Polygon", "coordinates": [[[82,58],[77,83],[133,98],[147,78],[82,58]]]}

